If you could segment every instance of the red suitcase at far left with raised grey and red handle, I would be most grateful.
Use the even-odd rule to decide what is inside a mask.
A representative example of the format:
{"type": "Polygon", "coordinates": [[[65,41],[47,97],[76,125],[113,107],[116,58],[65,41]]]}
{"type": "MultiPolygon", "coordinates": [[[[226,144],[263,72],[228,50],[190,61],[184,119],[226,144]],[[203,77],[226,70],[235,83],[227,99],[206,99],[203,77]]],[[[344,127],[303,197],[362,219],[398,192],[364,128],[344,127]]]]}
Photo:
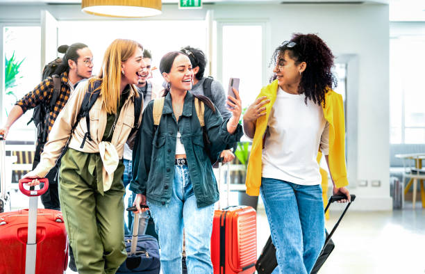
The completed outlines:
{"type": "MultiPolygon", "coordinates": [[[[44,179],[40,179],[42,181],[44,179]]],[[[60,211],[37,209],[38,191],[19,189],[30,196],[29,209],[0,213],[0,274],[59,274],[67,268],[68,241],[60,211]]]]}

